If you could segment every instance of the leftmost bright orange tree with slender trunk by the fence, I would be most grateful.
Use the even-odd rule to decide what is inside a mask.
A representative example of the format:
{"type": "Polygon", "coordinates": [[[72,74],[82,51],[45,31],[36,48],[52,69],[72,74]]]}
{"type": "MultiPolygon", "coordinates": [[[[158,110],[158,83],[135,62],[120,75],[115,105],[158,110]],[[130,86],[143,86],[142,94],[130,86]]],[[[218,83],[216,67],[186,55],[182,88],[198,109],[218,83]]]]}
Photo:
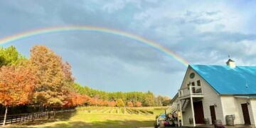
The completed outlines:
{"type": "Polygon", "coordinates": [[[0,70],[0,104],[6,107],[4,123],[8,107],[25,105],[33,97],[33,89],[36,79],[31,70],[22,66],[2,67],[0,70]]]}

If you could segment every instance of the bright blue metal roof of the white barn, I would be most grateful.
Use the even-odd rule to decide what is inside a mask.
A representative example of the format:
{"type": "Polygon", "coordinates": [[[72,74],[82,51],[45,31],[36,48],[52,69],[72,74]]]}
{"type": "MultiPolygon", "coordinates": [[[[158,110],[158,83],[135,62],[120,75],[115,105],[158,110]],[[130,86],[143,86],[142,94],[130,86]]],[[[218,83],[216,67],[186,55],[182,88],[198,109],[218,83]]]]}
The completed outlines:
{"type": "Polygon", "coordinates": [[[256,66],[190,66],[220,95],[256,95],[256,66]]]}

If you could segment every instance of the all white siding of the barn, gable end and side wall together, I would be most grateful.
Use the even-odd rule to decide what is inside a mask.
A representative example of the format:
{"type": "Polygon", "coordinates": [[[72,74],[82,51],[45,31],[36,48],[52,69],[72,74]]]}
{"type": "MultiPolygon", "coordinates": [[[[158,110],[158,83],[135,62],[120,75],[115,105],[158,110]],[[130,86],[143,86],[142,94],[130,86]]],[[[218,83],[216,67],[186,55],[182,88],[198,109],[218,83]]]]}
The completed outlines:
{"type": "MultiPolygon", "coordinates": [[[[216,92],[213,89],[213,87],[208,85],[208,82],[206,82],[206,80],[201,78],[201,76],[198,75],[198,73],[196,73],[195,78],[193,79],[189,78],[189,75],[191,73],[196,73],[196,71],[193,70],[192,68],[188,68],[185,78],[182,82],[181,88],[186,88],[188,82],[195,82],[196,84],[197,80],[201,81],[203,98],[193,98],[193,101],[195,102],[195,101],[202,100],[204,117],[210,119],[210,123],[211,123],[211,117],[210,117],[211,105],[217,105],[217,107],[215,107],[216,119],[220,119],[223,122],[223,124],[226,124],[225,116],[230,114],[235,114],[235,124],[245,123],[243,119],[241,104],[246,103],[247,99],[234,97],[233,95],[218,95],[218,92],[216,92]]],[[[250,100],[250,105],[248,106],[248,110],[250,113],[251,124],[255,124],[256,123],[256,99],[250,100]]],[[[183,125],[188,125],[189,118],[191,117],[192,117],[191,102],[189,102],[188,106],[186,107],[186,112],[183,112],[183,125]]]]}

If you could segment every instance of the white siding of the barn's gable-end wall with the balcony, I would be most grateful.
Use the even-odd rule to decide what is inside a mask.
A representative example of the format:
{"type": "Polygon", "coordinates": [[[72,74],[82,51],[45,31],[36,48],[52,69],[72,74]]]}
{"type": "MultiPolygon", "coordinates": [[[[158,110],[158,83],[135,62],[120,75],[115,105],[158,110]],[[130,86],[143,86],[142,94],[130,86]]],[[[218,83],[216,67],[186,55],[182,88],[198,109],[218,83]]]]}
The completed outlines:
{"type": "MultiPolygon", "coordinates": [[[[183,80],[183,85],[181,85],[181,88],[187,87],[188,82],[195,82],[195,85],[197,85],[197,80],[200,80],[202,91],[203,91],[203,98],[202,99],[194,98],[194,101],[202,100],[204,117],[210,119],[210,123],[211,123],[210,105],[214,105],[214,104],[217,105],[217,107],[215,107],[216,119],[220,119],[222,120],[222,122],[224,122],[222,105],[221,105],[220,96],[218,95],[218,93],[215,92],[215,90],[213,90],[213,88],[210,85],[208,85],[208,83],[205,80],[203,80],[203,78],[201,78],[201,76],[198,75],[197,73],[193,79],[189,78],[189,75],[191,73],[196,73],[196,72],[193,69],[189,68],[183,80]]],[[[188,105],[186,108],[186,112],[183,112],[183,124],[185,124],[184,122],[186,122],[186,124],[189,124],[189,118],[191,117],[192,117],[191,105],[188,105]]]]}

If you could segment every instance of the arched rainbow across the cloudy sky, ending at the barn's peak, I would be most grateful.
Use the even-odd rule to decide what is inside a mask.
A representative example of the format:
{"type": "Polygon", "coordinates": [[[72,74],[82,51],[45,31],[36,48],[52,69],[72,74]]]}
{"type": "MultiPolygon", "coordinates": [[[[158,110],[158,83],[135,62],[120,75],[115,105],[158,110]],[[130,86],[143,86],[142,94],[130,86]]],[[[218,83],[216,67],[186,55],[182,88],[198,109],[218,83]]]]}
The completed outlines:
{"type": "Polygon", "coordinates": [[[0,45],[11,43],[13,41],[18,41],[23,38],[30,38],[32,36],[37,36],[37,35],[42,35],[47,33],[57,33],[60,31],[92,31],[92,32],[110,33],[117,36],[123,36],[125,38],[130,38],[134,41],[137,41],[138,43],[143,43],[146,46],[154,48],[155,50],[158,50],[159,52],[164,53],[165,55],[168,55],[171,58],[174,58],[175,60],[178,60],[178,62],[182,63],[183,65],[188,66],[188,61],[183,59],[180,55],[177,55],[176,53],[174,53],[174,51],[164,48],[163,46],[160,46],[158,43],[154,41],[149,41],[148,39],[142,38],[141,36],[137,36],[132,33],[127,33],[124,31],[115,30],[113,28],[102,28],[102,27],[96,27],[96,26],[58,26],[58,27],[50,27],[50,28],[41,28],[33,31],[27,31],[24,33],[18,33],[16,35],[8,36],[6,38],[1,38],[0,45]]]}

